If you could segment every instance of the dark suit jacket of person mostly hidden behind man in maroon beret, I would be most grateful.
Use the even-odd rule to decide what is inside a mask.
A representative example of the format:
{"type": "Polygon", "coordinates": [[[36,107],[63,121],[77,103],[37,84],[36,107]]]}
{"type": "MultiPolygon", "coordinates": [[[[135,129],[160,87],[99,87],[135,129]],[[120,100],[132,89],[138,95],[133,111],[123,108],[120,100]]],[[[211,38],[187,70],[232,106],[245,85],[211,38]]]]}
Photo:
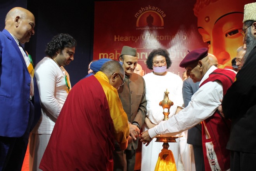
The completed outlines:
{"type": "MultiPolygon", "coordinates": [[[[191,101],[192,95],[199,89],[199,82],[194,83],[189,77],[183,81],[182,95],[185,107],[191,101]]],[[[201,124],[195,125],[188,130],[187,143],[192,145],[202,145],[202,126],[201,124]]]]}

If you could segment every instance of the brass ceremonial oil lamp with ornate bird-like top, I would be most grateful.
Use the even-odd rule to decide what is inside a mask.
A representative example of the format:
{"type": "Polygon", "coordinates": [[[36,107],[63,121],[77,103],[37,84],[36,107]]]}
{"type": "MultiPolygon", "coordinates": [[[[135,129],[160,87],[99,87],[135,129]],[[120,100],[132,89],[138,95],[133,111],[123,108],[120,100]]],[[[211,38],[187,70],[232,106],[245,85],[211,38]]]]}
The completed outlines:
{"type": "MultiPolygon", "coordinates": [[[[164,92],[164,99],[159,103],[160,106],[163,107],[163,114],[164,114],[164,119],[163,121],[167,121],[168,120],[168,116],[170,114],[170,108],[173,105],[173,102],[169,99],[168,97],[168,90],[166,89],[166,91],[164,92]],[[165,112],[164,109],[168,109],[168,112],[165,112]]],[[[163,142],[163,149],[168,150],[169,148],[169,142],[176,142],[176,138],[179,138],[181,136],[163,136],[163,135],[159,135],[156,136],[156,142],[163,142]]],[[[163,158],[165,159],[167,156],[163,156],[163,158]]]]}

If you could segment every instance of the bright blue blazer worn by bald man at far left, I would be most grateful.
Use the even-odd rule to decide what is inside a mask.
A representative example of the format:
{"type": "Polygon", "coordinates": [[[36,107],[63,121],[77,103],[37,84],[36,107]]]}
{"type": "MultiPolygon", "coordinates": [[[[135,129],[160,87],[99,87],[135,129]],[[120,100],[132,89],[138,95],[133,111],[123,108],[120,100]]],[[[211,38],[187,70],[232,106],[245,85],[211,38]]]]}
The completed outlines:
{"type": "Polygon", "coordinates": [[[35,109],[31,116],[29,93],[30,75],[25,60],[14,38],[4,29],[0,32],[0,136],[21,137],[28,128],[29,117],[35,126],[41,115],[35,77],[35,109]]]}

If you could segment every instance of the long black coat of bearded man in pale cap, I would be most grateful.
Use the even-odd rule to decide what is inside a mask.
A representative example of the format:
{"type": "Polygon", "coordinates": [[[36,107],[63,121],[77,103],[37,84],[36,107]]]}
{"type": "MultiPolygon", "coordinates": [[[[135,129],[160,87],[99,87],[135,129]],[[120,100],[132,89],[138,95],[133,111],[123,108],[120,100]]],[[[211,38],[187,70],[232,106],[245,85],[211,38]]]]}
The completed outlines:
{"type": "Polygon", "coordinates": [[[256,47],[222,102],[225,118],[231,119],[227,149],[256,153],[256,47]]]}

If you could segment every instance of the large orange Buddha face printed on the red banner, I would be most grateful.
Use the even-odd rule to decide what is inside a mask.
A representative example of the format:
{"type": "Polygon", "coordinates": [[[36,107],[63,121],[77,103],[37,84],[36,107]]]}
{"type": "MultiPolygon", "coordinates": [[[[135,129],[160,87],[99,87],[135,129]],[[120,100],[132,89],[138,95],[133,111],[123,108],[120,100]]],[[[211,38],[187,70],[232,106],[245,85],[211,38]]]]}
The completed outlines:
{"type": "Polygon", "coordinates": [[[209,53],[214,54],[219,68],[232,69],[231,61],[237,48],[243,45],[241,35],[244,5],[254,0],[197,0],[194,14],[202,40],[208,43],[209,53]]]}

